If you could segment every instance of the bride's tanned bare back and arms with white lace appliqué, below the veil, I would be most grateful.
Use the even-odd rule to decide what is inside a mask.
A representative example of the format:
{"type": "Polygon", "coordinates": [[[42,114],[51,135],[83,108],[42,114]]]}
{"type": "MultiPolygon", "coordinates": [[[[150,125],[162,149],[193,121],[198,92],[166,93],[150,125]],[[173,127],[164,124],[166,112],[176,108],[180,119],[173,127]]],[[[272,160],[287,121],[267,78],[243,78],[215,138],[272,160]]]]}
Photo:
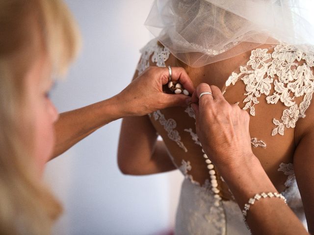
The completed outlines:
{"type": "MultiPolygon", "coordinates": [[[[148,66],[168,65],[182,66],[167,48],[153,40],[142,49],[134,78],[148,66]]],[[[304,218],[303,202],[309,228],[314,224],[313,67],[314,55],[289,45],[262,45],[205,67],[187,68],[195,87],[202,82],[215,85],[229,103],[249,112],[253,153],[277,190],[289,197],[288,204],[300,219],[304,218]]],[[[224,201],[233,200],[219,172],[214,168],[215,177],[209,175],[193,115],[190,107],[176,107],[149,117],[124,118],[119,167],[135,175],[179,168],[192,183],[212,190],[215,183],[211,180],[216,179],[213,191],[224,201]],[[156,141],[157,134],[163,142],[156,141]]]]}

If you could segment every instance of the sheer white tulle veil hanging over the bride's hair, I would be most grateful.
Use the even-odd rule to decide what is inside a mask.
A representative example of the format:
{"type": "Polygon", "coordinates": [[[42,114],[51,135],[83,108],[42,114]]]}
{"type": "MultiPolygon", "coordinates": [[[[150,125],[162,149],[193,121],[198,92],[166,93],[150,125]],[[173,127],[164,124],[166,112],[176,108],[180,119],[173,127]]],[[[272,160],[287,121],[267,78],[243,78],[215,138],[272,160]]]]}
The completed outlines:
{"type": "Polygon", "coordinates": [[[145,25],[178,59],[201,67],[261,44],[284,42],[313,52],[313,5],[311,0],[155,0],[145,25]]]}

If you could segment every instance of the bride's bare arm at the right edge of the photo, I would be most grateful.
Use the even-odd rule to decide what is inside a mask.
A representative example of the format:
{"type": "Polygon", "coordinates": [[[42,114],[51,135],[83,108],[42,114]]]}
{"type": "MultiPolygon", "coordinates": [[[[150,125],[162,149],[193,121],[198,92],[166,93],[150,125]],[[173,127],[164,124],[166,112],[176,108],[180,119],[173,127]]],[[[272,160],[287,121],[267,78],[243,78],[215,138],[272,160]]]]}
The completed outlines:
{"type": "Polygon", "coordinates": [[[298,120],[297,129],[301,136],[293,156],[294,172],[302,197],[308,229],[314,234],[314,103],[298,120]]]}

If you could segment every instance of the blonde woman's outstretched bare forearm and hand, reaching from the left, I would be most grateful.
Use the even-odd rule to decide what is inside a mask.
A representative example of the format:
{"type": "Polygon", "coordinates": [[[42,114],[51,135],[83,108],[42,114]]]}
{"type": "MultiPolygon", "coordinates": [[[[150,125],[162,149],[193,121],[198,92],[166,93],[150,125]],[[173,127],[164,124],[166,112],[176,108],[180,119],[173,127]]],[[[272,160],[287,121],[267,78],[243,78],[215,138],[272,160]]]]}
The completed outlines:
{"type": "MultiPolygon", "coordinates": [[[[143,116],[156,110],[185,106],[190,101],[183,94],[165,94],[167,68],[149,67],[121,93],[104,101],[60,114],[55,123],[56,144],[53,159],[105,124],[123,117],[143,116]],[[79,117],[79,118],[78,118],[79,117]]],[[[179,81],[190,94],[193,84],[183,68],[172,67],[172,80],[179,81]]]]}

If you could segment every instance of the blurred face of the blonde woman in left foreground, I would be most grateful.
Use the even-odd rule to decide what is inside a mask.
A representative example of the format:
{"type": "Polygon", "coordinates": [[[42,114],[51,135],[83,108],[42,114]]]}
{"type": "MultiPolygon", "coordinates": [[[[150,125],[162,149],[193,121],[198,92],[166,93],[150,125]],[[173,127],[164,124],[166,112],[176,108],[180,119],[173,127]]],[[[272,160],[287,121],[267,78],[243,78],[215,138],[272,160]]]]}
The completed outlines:
{"type": "Polygon", "coordinates": [[[54,147],[54,122],[58,113],[49,97],[53,81],[48,56],[42,53],[26,74],[26,107],[31,114],[35,164],[42,175],[54,147]]]}

